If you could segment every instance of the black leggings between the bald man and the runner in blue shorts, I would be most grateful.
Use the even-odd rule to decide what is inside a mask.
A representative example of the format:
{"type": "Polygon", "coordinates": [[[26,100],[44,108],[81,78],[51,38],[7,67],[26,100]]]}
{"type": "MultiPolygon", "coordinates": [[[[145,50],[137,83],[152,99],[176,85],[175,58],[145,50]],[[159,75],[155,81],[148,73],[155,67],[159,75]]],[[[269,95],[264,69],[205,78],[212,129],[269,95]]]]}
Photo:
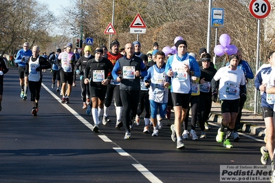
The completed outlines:
{"type": "Polygon", "coordinates": [[[142,112],[145,107],[145,118],[150,118],[150,102],[149,102],[149,94],[148,91],[140,91],[140,101],[137,107],[137,116],[142,115],[142,112]]]}

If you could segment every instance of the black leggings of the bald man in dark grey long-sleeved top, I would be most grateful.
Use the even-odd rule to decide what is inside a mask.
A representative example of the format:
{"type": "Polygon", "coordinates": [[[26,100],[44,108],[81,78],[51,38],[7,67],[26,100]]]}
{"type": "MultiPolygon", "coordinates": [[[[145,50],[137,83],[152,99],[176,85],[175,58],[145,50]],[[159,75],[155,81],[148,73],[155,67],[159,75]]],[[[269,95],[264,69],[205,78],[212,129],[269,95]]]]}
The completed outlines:
{"type": "Polygon", "coordinates": [[[124,122],[124,127],[130,132],[130,120],[133,118],[133,116],[137,114],[140,91],[127,91],[124,89],[120,89],[120,98],[123,106],[122,118],[124,122]]]}

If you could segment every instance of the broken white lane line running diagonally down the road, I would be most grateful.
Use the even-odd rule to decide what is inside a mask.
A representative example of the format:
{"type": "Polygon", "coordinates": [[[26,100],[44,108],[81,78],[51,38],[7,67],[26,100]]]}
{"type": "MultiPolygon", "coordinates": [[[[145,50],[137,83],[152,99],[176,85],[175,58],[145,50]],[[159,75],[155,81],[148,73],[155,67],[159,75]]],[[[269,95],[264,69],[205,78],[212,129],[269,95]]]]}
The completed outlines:
{"type": "MultiPolygon", "coordinates": [[[[56,94],[54,94],[54,92],[52,92],[50,89],[48,89],[43,83],[42,86],[46,89],[47,92],[49,92],[56,100],[58,100],[59,103],[61,103],[61,99],[56,96],[56,94]]],[[[69,105],[64,104],[63,107],[65,107],[68,111],[70,111],[72,114],[74,114],[74,116],[76,116],[76,118],[78,118],[78,120],[80,120],[80,122],[82,122],[84,125],[86,125],[86,127],[88,127],[89,129],[91,129],[91,131],[93,131],[94,126],[91,125],[87,120],[85,120],[82,116],[80,116],[76,111],[74,111],[74,109],[72,109],[71,107],[69,107],[69,105]]],[[[104,142],[113,142],[111,141],[109,138],[107,138],[107,136],[104,135],[98,135],[99,138],[101,138],[104,142]]],[[[115,151],[117,151],[120,155],[123,156],[130,156],[131,158],[133,158],[131,155],[129,155],[129,153],[126,153],[126,151],[124,151],[122,148],[120,147],[113,147],[113,149],[115,151]]],[[[133,158],[133,160],[135,160],[133,158]]],[[[137,162],[137,160],[135,160],[135,162],[137,162]]],[[[137,171],[140,171],[140,173],[142,173],[142,175],[144,175],[144,177],[146,177],[150,182],[154,182],[154,183],[161,183],[162,181],[159,180],[155,175],[153,175],[153,173],[151,173],[150,171],[148,171],[148,169],[146,169],[142,164],[132,164],[133,166],[135,166],[135,169],[137,169],[137,171]]]]}

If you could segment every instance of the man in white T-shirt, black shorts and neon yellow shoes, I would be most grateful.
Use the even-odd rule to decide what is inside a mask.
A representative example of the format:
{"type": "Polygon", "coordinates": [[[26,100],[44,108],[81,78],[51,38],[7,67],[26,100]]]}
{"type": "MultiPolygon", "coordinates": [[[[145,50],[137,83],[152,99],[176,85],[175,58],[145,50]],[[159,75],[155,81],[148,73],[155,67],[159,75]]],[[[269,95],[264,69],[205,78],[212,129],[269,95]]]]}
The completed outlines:
{"type": "Polygon", "coordinates": [[[245,75],[238,67],[239,56],[232,54],[229,57],[230,65],[221,67],[212,79],[212,100],[217,102],[217,83],[219,80],[219,100],[221,100],[221,114],[223,121],[216,136],[217,142],[223,142],[226,148],[233,147],[230,143],[230,136],[234,130],[236,116],[239,109],[239,98],[246,98],[245,75]],[[240,95],[241,94],[241,95],[240,95]],[[225,140],[223,141],[223,130],[227,127],[225,140]]]}

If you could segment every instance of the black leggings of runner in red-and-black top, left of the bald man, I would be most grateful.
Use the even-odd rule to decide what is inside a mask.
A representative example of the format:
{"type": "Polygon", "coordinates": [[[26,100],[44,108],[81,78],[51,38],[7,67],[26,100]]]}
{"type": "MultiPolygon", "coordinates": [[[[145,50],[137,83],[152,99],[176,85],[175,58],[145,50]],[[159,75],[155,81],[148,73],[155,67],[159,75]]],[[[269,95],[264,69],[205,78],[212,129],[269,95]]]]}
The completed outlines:
{"type": "Polygon", "coordinates": [[[111,100],[115,98],[115,106],[122,107],[122,102],[120,99],[120,85],[107,85],[107,92],[104,100],[104,106],[110,107],[111,100]]]}

